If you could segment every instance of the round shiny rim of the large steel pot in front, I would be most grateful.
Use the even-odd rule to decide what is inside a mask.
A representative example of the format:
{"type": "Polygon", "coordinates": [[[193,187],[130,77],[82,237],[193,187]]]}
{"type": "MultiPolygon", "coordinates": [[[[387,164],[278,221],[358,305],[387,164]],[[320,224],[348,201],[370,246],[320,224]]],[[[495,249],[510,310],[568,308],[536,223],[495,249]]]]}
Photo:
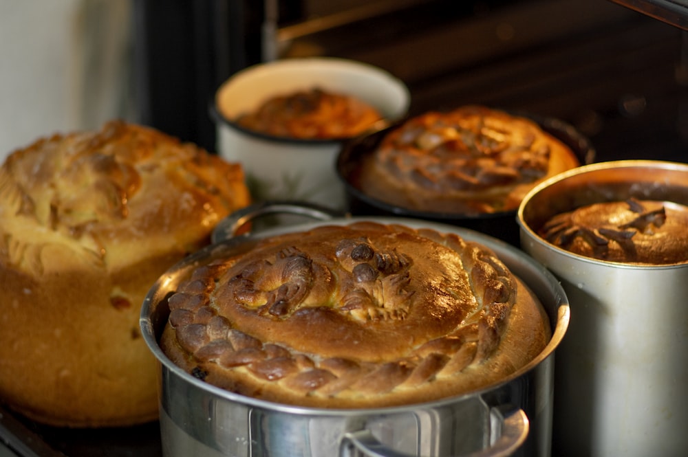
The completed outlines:
{"type": "MultiPolygon", "coordinates": [[[[509,266],[510,269],[514,269],[513,266],[509,266]]],[[[538,298],[544,302],[544,298],[538,296],[538,298]]],[[[249,405],[256,408],[262,408],[264,410],[272,410],[275,412],[286,412],[290,414],[305,414],[305,415],[316,415],[316,416],[360,416],[361,414],[394,414],[397,412],[407,412],[409,408],[435,408],[439,405],[447,405],[449,403],[455,403],[457,401],[462,401],[475,397],[476,395],[484,394],[491,390],[495,390],[500,386],[504,386],[518,377],[522,377],[527,372],[535,369],[539,364],[541,364],[545,359],[552,356],[555,353],[555,349],[561,343],[566,331],[568,329],[568,324],[570,320],[570,308],[568,304],[568,298],[566,297],[566,292],[563,291],[563,287],[559,280],[553,276],[550,271],[548,271],[543,265],[537,262],[534,258],[531,258],[521,250],[508,245],[504,241],[500,241],[497,238],[482,234],[480,232],[475,232],[473,230],[465,229],[463,227],[455,227],[453,225],[446,225],[444,223],[435,223],[431,221],[420,221],[418,219],[405,219],[398,217],[385,217],[385,216],[345,216],[338,217],[334,219],[329,219],[327,221],[316,221],[309,223],[299,223],[297,225],[290,225],[289,227],[277,227],[276,229],[265,230],[261,232],[259,236],[255,234],[244,234],[236,236],[235,238],[230,238],[225,241],[220,241],[218,243],[208,245],[200,251],[191,254],[180,263],[172,267],[166,274],[162,275],[155,285],[151,287],[149,293],[147,294],[144,302],[142,304],[142,310],[140,314],[140,328],[143,334],[144,341],[146,342],[149,350],[155,355],[158,364],[164,366],[166,370],[169,370],[174,375],[190,383],[196,388],[200,388],[209,394],[213,394],[216,397],[235,401],[244,405],[249,405]],[[515,269],[522,270],[519,273],[514,271],[514,273],[528,286],[530,289],[533,285],[529,283],[528,279],[524,276],[530,276],[530,282],[533,280],[533,276],[537,276],[537,279],[541,281],[541,285],[546,285],[548,287],[548,292],[551,294],[552,301],[555,302],[549,307],[552,308],[550,312],[548,306],[544,305],[547,314],[550,318],[550,326],[552,326],[552,337],[546,346],[541,350],[539,355],[537,355],[533,360],[528,362],[519,370],[511,373],[510,375],[504,377],[499,381],[495,381],[480,389],[474,390],[473,392],[467,392],[465,394],[455,395],[452,397],[446,397],[444,399],[438,399],[435,401],[422,402],[422,403],[410,403],[408,405],[395,405],[388,407],[376,407],[376,408],[315,408],[315,407],[305,407],[299,405],[289,405],[286,403],[277,403],[273,401],[266,401],[261,399],[255,399],[253,397],[247,397],[241,394],[236,394],[228,390],[224,390],[212,384],[206,383],[200,379],[193,377],[188,372],[182,370],[179,366],[173,363],[161,350],[158,345],[158,334],[162,331],[162,328],[155,328],[153,324],[153,319],[151,315],[157,311],[158,304],[164,300],[164,296],[160,296],[160,289],[164,287],[166,283],[173,280],[174,276],[184,272],[191,271],[197,265],[201,265],[203,260],[212,256],[213,252],[222,249],[233,249],[233,247],[240,247],[249,243],[250,241],[257,241],[264,236],[270,236],[273,234],[279,234],[283,232],[291,232],[297,230],[308,230],[311,227],[316,227],[319,225],[332,225],[339,224],[345,225],[358,221],[374,221],[378,223],[385,223],[389,225],[407,225],[409,227],[416,228],[429,228],[433,230],[438,230],[440,232],[453,232],[462,236],[462,238],[469,241],[477,241],[493,249],[497,256],[502,260],[507,266],[510,264],[518,265],[515,269]]],[[[160,320],[160,324],[164,326],[166,324],[167,317],[160,320]]]]}

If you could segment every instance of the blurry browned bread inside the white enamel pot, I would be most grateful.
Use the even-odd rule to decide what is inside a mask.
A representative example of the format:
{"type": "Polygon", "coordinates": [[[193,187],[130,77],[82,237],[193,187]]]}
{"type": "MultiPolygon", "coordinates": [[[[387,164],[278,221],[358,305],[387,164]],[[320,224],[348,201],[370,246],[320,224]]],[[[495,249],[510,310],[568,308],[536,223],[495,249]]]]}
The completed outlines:
{"type": "Polygon", "coordinates": [[[316,87],[269,98],[237,124],[277,137],[329,140],[363,133],[381,118],[363,100],[316,87]]]}

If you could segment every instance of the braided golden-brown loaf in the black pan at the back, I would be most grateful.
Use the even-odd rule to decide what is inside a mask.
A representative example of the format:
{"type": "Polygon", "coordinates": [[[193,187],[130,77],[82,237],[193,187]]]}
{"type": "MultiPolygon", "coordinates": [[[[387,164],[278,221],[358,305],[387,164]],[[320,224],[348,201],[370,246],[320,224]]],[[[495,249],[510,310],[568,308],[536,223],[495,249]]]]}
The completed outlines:
{"type": "Polygon", "coordinates": [[[428,112],[390,131],[361,166],[361,190],[401,208],[482,214],[518,207],[537,183],[579,166],[535,122],[480,106],[428,112]]]}

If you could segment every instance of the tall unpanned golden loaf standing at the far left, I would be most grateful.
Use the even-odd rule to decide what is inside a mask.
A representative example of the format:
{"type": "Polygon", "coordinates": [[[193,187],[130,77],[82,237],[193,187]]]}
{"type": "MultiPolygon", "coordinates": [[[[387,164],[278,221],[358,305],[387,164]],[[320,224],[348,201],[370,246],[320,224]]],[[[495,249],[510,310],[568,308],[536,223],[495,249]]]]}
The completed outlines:
{"type": "Polygon", "coordinates": [[[14,151],[0,168],[0,401],[51,425],[155,419],[142,302],[248,203],[239,164],[144,126],[14,151]]]}

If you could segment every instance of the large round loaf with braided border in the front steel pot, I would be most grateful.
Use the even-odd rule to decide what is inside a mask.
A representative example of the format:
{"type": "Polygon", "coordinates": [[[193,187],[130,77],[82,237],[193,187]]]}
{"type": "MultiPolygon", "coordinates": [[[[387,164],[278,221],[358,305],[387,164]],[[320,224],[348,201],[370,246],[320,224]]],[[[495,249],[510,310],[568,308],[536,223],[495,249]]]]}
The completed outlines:
{"type": "Polygon", "coordinates": [[[278,234],[195,269],[160,341],[178,366],[249,397],[374,408],[464,394],[546,346],[541,303],[456,234],[358,221],[278,234]]]}

